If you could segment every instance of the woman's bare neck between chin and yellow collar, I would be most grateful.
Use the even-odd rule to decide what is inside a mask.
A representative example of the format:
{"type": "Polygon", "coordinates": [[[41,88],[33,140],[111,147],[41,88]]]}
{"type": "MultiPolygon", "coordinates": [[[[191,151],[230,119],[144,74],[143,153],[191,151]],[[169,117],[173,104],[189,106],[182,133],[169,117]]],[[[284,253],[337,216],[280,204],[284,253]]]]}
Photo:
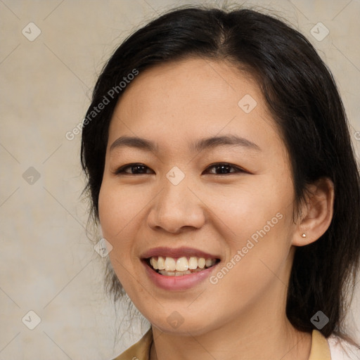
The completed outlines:
{"type": "Polygon", "coordinates": [[[169,354],[172,360],[308,360],[311,350],[311,334],[295,330],[288,321],[276,328],[245,329],[231,323],[196,336],[163,333],[153,326],[153,338],[150,360],[166,360],[169,354]]]}

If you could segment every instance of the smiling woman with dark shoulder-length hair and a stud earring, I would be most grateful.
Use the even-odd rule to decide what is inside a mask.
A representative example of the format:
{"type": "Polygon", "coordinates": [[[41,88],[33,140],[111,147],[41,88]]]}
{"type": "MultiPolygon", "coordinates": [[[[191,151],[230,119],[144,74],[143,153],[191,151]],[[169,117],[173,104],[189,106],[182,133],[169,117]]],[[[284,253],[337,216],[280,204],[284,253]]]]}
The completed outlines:
{"type": "Polygon", "coordinates": [[[98,78],[82,165],[110,290],[151,323],[117,360],[359,356],[359,172],[302,34],[247,9],[153,20],[98,78]]]}

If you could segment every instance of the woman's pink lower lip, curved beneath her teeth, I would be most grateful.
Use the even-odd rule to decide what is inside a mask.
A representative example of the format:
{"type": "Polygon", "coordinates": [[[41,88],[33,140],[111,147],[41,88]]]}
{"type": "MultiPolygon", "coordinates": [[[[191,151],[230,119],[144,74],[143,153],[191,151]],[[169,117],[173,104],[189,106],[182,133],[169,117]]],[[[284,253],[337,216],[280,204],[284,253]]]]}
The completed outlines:
{"type": "Polygon", "coordinates": [[[206,278],[210,276],[210,273],[217,266],[211,266],[208,269],[198,271],[193,274],[180,275],[180,276],[165,276],[158,274],[155,270],[150,268],[145,261],[142,262],[145,266],[146,274],[155,285],[165,290],[186,290],[195,287],[206,278]]]}

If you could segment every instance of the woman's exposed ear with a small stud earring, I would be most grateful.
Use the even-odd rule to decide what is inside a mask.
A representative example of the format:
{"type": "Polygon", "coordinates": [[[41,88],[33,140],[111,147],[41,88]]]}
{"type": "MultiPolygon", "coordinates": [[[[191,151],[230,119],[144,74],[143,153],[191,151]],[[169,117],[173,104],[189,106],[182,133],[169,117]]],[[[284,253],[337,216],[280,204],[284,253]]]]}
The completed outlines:
{"type": "Polygon", "coordinates": [[[323,177],[307,186],[307,197],[300,208],[292,244],[304,246],[318,240],[330,226],[333,205],[333,181],[323,177]],[[305,237],[302,234],[305,234],[305,237]]]}

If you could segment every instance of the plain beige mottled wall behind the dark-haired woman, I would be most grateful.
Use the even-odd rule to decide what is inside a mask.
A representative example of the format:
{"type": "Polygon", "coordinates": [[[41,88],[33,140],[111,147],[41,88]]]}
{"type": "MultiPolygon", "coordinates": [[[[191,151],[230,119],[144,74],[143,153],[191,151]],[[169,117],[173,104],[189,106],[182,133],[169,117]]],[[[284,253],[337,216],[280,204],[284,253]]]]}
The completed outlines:
{"type": "MultiPolygon", "coordinates": [[[[240,3],[274,9],[320,51],[359,153],[360,1],[240,3]],[[310,33],[319,22],[330,30],[322,41],[310,33]]],[[[146,330],[136,320],[129,334],[126,309],[118,309],[116,322],[103,295],[105,258],[86,238],[86,203],[79,199],[80,135],[69,141],[65,133],[82,121],[96,74],[117,44],[176,4],[191,1],[0,0],[0,360],[111,359],[146,330]],[[30,22],[41,30],[34,41],[22,33],[30,37],[32,26],[36,34],[30,22]],[[30,310],[41,318],[34,330],[22,321],[34,323],[30,310]],[[116,328],[124,336],[113,346],[116,328]]],[[[359,298],[358,290],[349,314],[358,324],[359,298]]]]}

